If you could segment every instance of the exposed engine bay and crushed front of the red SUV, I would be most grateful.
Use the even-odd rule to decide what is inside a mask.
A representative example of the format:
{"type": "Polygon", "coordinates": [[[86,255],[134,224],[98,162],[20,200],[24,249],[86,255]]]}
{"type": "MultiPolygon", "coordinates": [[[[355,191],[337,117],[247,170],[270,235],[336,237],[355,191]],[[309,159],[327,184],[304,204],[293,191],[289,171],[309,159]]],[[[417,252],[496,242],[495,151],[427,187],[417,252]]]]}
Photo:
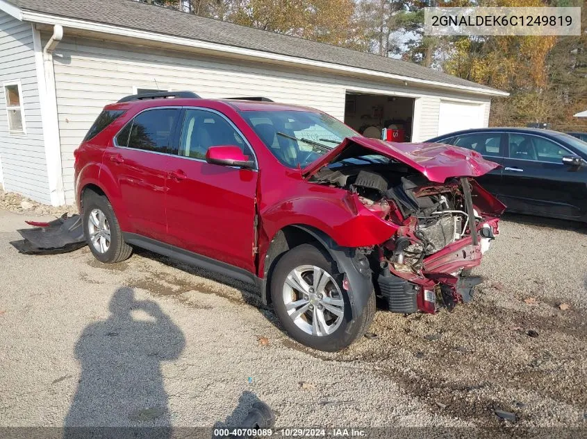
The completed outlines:
{"type": "MultiPolygon", "coordinates": [[[[474,158],[488,169],[497,166],[474,158]]],[[[342,160],[348,162],[347,157],[342,160]]],[[[398,160],[397,154],[386,163],[373,155],[368,160],[372,163],[322,167],[313,173],[313,181],[347,189],[372,214],[397,227],[386,241],[361,248],[370,260],[377,294],[397,313],[435,313],[439,307],[452,311],[459,302],[468,302],[481,282],[470,270],[481,264],[499,233],[505,206],[470,178],[471,172],[433,181],[424,166],[424,171],[406,166],[408,160],[398,160]]],[[[436,171],[439,167],[436,159],[436,171]]]]}

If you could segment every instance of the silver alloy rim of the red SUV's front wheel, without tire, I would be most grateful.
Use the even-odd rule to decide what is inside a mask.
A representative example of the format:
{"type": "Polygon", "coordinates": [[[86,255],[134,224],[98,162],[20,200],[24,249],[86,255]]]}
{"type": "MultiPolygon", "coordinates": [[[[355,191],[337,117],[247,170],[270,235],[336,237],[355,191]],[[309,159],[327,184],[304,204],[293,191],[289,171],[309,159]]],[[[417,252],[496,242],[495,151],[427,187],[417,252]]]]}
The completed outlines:
{"type": "Polygon", "coordinates": [[[295,325],[313,336],[332,334],[345,316],[338,284],[326,270],[313,265],[290,271],[283,285],[283,302],[295,325]]]}

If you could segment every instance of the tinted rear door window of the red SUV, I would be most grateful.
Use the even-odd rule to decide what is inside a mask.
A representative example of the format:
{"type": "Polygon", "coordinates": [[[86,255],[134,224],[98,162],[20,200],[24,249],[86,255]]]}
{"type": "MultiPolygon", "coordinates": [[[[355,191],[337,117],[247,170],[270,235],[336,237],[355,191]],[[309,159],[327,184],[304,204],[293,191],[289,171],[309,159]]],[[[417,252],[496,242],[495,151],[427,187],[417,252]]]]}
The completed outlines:
{"type": "Polygon", "coordinates": [[[172,137],[179,119],[178,108],[161,108],[140,113],[124,127],[116,137],[119,146],[154,151],[171,152],[172,137]],[[127,130],[127,128],[129,128],[127,130]],[[126,143],[125,139],[128,139],[126,143]]]}

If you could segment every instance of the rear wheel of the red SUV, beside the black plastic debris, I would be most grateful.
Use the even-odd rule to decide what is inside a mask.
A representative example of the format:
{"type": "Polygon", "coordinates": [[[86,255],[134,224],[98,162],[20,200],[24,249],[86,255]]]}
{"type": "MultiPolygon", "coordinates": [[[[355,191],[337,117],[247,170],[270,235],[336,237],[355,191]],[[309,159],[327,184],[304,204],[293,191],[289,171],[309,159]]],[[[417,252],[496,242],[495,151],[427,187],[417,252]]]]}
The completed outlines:
{"type": "Polygon", "coordinates": [[[104,264],[122,262],[133,252],[122,238],[108,198],[90,190],[83,196],[83,233],[92,255],[104,264]]]}

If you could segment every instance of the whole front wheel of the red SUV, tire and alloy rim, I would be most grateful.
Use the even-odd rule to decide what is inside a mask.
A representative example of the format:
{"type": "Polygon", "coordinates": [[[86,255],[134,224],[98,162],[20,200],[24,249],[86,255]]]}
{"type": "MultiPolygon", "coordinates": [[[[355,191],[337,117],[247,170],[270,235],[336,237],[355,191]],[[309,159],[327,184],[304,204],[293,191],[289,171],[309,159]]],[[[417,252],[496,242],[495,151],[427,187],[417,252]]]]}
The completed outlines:
{"type": "Polygon", "coordinates": [[[349,292],[342,287],[336,263],[312,244],[281,257],[271,279],[271,298],[292,338],[327,352],[342,350],[363,336],[375,312],[371,294],[361,315],[352,316],[349,292]]]}

